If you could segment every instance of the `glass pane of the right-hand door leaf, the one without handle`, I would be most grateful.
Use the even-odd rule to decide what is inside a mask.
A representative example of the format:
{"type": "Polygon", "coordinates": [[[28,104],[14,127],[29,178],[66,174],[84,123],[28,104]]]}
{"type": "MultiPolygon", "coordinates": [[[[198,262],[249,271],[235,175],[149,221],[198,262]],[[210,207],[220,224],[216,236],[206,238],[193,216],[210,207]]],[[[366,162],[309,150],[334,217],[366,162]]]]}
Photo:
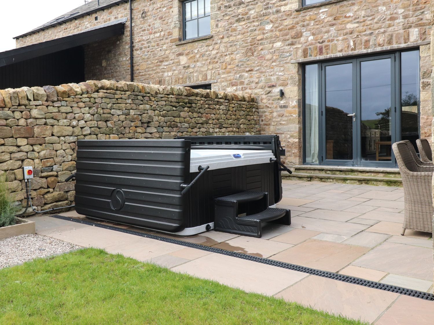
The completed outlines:
{"type": "Polygon", "coordinates": [[[362,160],[391,161],[390,58],[360,63],[362,160]]]}

